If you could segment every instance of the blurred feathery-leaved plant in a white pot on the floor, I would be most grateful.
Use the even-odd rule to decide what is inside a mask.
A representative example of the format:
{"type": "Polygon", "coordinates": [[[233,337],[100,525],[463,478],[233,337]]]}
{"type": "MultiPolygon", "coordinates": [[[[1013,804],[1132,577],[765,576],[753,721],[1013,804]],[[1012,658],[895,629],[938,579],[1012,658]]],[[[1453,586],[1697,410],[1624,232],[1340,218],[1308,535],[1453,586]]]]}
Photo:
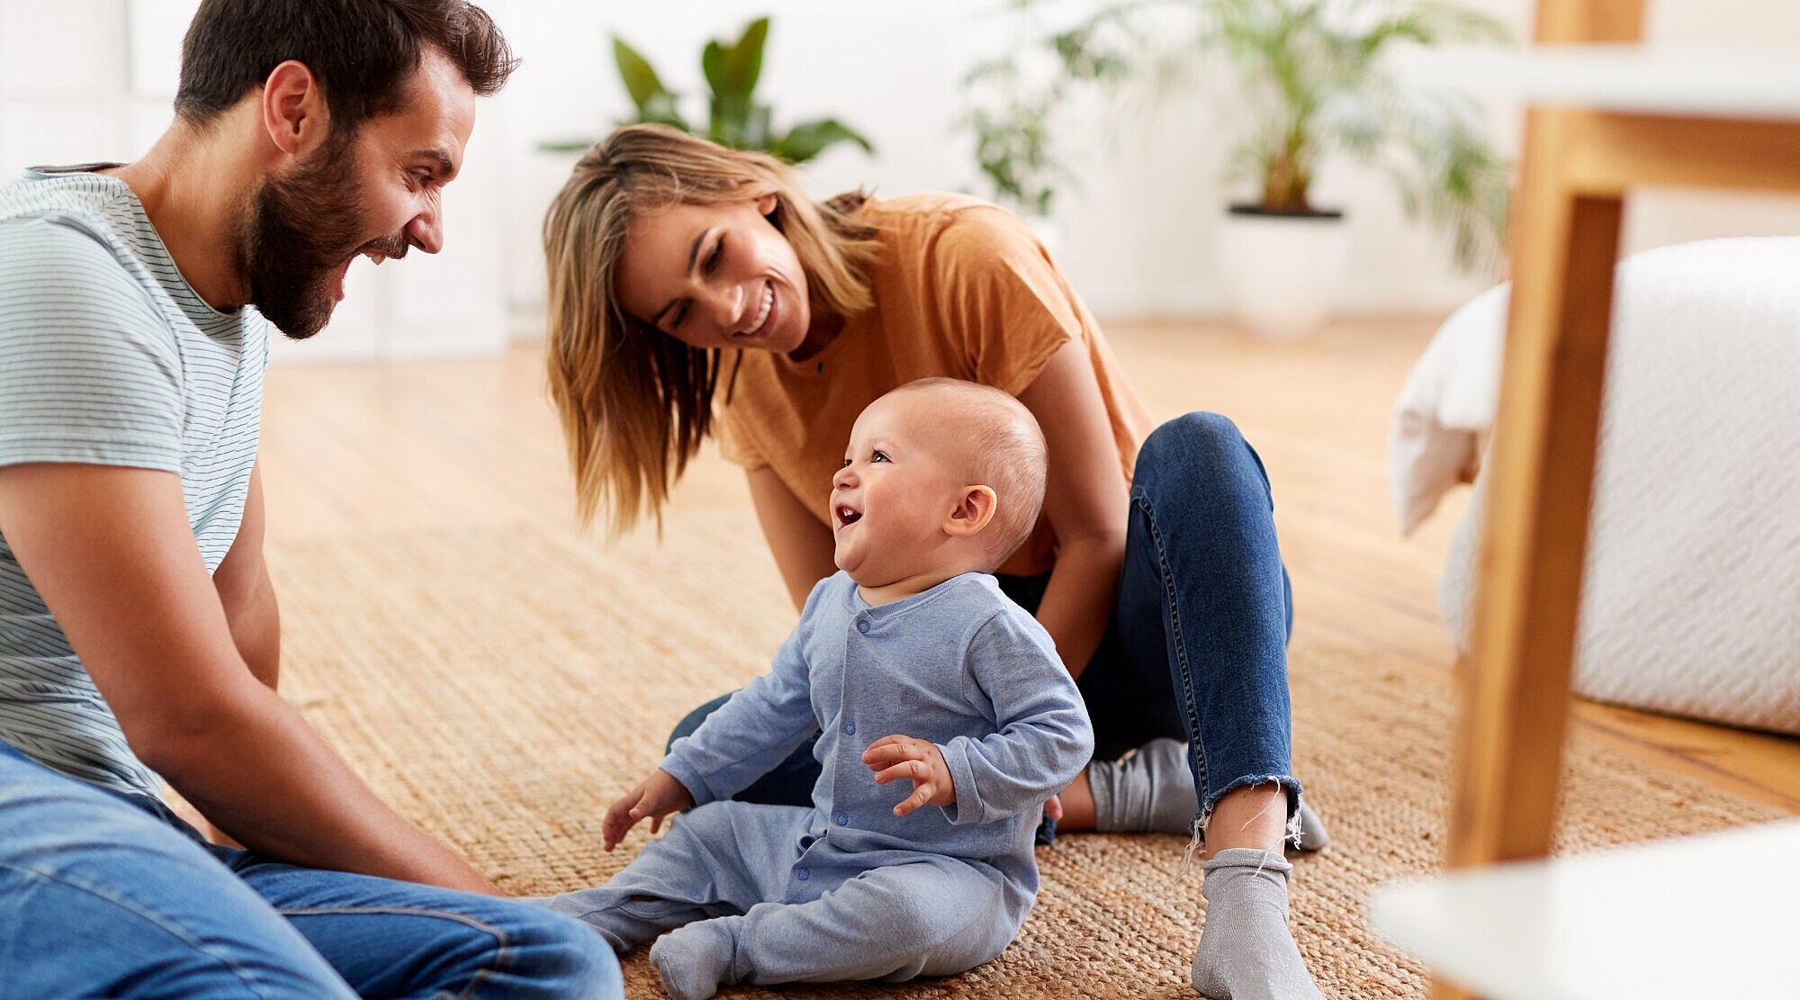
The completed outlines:
{"type": "Polygon", "coordinates": [[[1161,94],[1228,70],[1247,121],[1228,180],[1249,198],[1228,205],[1219,228],[1226,295],[1249,329],[1291,338],[1325,318],[1348,252],[1343,210],[1312,200],[1328,156],[1386,167],[1408,214],[1449,230],[1458,266],[1499,261],[1508,167],[1476,108],[1408,88],[1384,56],[1505,38],[1492,18],[1442,0],[1121,0],[1044,47],[1069,81],[1147,79],[1161,94]]]}

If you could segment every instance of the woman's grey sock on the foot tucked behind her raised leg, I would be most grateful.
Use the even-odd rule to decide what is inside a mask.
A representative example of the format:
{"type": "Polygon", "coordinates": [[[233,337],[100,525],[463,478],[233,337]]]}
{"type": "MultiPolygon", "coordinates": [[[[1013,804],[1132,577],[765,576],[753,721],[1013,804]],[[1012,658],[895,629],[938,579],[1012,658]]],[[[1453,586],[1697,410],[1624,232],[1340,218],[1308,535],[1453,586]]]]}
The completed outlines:
{"type": "MultiPolygon", "coordinates": [[[[1094,829],[1100,833],[1192,833],[1188,824],[1199,804],[1188,745],[1179,739],[1152,739],[1123,761],[1087,764],[1087,786],[1094,793],[1094,829]]],[[[1330,835],[1301,800],[1298,847],[1318,851],[1327,844],[1330,835]]]]}

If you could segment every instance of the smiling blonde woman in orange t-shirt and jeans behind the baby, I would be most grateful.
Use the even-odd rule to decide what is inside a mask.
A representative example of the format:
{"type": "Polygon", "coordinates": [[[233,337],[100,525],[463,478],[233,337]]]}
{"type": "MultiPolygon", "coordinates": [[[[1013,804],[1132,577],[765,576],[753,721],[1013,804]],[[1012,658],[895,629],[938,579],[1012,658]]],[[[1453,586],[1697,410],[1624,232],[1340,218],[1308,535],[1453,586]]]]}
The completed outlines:
{"type": "MultiPolygon", "coordinates": [[[[1292,604],[1267,477],[1228,419],[1152,430],[1057,264],[972,198],[821,203],[779,160],[628,126],[576,164],[544,243],[583,522],[657,516],[716,432],[796,608],[835,572],[830,484],[866,405],[927,376],[1024,403],[1049,482],[997,576],[1055,638],[1096,736],[1060,826],[1192,831],[1208,851],[1195,987],[1318,996],[1280,853],[1283,831],[1323,835],[1289,768],[1292,604]]],[[[810,804],[817,777],[806,746],[740,797],[810,804]]]]}

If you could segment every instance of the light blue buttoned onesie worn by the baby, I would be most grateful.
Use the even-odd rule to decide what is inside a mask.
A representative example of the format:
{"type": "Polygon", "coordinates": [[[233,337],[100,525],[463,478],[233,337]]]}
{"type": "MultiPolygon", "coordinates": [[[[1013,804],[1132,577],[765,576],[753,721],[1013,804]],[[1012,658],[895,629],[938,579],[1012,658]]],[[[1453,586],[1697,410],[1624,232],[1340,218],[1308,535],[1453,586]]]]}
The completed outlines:
{"type": "Polygon", "coordinates": [[[871,608],[837,574],[774,667],[662,761],[697,808],[607,885],[549,905],[619,951],[713,921],[722,984],[954,975],[1019,933],[1039,808],[1091,754],[1049,633],[992,576],[871,608]],[[815,728],[812,809],[727,800],[815,728]],[[954,804],[893,815],[911,782],[878,786],[862,763],[891,734],[938,745],[954,804]]]}

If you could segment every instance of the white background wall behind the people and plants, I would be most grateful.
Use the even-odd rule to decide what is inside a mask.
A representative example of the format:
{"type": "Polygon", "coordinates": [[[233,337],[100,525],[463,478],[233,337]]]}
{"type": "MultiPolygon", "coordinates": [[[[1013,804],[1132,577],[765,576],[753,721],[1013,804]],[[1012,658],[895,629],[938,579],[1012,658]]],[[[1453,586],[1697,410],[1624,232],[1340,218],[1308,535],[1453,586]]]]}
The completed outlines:
{"type": "MultiPolygon", "coordinates": [[[[1093,0],[1066,0],[1075,9],[1093,0]]],[[[1472,0],[1530,36],[1534,0],[1472,0]]],[[[128,158],[167,121],[180,31],[194,0],[0,0],[0,162],[128,158]],[[131,29],[126,31],[126,14],[131,29]]],[[[772,16],[760,95],[776,122],[837,115],[866,131],[875,156],[835,149],[810,167],[817,194],[985,192],[972,140],[954,131],[959,81],[1013,43],[1003,0],[488,0],[524,65],[486,103],[468,171],[446,196],[448,243],[437,259],[353,268],[342,318],[304,356],[400,356],[491,351],[506,329],[535,333],[544,300],[538,225],[572,156],[535,151],[544,138],[605,133],[626,112],[610,34],[643,50],[664,81],[704,92],[706,38],[772,16]]],[[[1800,45],[1800,0],[1651,0],[1649,40],[1679,45],[1800,45]]],[[[1058,209],[1060,259],[1102,315],[1213,313],[1222,304],[1213,227],[1229,192],[1217,182],[1226,137],[1217,95],[1168,101],[1145,121],[1085,101],[1064,122],[1078,191],[1058,209]]],[[[1517,110],[1490,110],[1516,149],[1517,110]]],[[[1447,309],[1485,279],[1458,275],[1442,239],[1402,218],[1384,176],[1328,164],[1323,203],[1352,219],[1343,309],[1447,309]]],[[[1627,248],[1723,234],[1800,232],[1800,200],[1667,194],[1634,198],[1627,248]]]]}

